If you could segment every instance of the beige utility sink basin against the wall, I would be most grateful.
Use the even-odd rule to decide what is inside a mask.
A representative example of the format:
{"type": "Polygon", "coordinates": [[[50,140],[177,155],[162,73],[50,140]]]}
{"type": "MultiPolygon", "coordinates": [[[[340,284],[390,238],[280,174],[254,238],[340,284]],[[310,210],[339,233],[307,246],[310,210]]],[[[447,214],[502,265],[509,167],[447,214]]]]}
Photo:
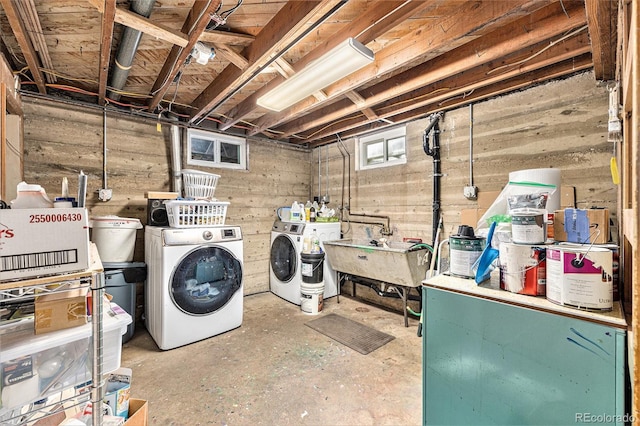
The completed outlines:
{"type": "Polygon", "coordinates": [[[324,241],[329,264],[335,271],[396,284],[418,287],[428,269],[428,249],[414,243],[342,239],[324,241]]]}

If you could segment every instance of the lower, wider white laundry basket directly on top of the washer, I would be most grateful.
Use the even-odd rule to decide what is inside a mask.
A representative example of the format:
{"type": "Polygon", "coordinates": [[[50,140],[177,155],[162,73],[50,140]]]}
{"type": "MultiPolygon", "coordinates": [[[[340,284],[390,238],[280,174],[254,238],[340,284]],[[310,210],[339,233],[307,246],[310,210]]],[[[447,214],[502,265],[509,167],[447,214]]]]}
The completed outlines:
{"type": "Polygon", "coordinates": [[[229,204],[228,201],[165,201],[169,226],[172,228],[224,225],[229,204]]]}

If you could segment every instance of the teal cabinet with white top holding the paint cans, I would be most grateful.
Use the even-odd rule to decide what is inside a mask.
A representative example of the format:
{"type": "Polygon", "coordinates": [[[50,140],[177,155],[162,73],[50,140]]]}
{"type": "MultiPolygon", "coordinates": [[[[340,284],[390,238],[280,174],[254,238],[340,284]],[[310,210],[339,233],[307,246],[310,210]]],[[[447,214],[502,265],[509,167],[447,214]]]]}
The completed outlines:
{"type": "Polygon", "coordinates": [[[423,423],[624,424],[626,323],[435,277],[423,286],[423,423]]]}

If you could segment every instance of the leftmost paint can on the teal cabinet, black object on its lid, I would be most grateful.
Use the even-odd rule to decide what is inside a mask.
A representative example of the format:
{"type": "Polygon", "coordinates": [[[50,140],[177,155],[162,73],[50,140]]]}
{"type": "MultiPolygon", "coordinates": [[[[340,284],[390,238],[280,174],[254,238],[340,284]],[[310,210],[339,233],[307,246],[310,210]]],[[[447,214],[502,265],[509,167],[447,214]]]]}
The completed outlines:
{"type": "Polygon", "coordinates": [[[449,272],[463,278],[474,278],[472,266],[484,250],[485,239],[476,237],[473,227],[460,225],[458,234],[449,237],[449,272]]]}

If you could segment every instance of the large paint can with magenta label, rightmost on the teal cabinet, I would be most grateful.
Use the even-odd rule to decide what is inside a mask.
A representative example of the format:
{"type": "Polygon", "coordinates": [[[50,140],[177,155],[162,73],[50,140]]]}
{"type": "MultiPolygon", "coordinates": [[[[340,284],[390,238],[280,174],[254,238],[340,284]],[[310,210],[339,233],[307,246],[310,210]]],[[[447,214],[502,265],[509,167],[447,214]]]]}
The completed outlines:
{"type": "Polygon", "coordinates": [[[612,310],[612,251],[596,246],[548,246],[547,300],[584,310],[612,310]]]}

